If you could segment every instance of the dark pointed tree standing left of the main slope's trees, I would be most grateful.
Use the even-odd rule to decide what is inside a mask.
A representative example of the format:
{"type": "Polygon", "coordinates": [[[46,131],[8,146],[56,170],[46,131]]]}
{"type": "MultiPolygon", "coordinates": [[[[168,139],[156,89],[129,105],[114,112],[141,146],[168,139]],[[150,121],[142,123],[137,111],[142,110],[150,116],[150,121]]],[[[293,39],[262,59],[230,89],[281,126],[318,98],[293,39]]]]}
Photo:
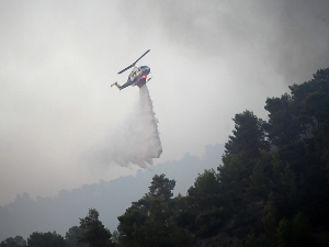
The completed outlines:
{"type": "Polygon", "coordinates": [[[111,247],[115,246],[112,240],[110,229],[105,228],[99,220],[99,212],[95,209],[89,209],[86,217],[80,218],[80,227],[86,229],[78,237],[78,243],[87,243],[89,247],[111,247]]]}

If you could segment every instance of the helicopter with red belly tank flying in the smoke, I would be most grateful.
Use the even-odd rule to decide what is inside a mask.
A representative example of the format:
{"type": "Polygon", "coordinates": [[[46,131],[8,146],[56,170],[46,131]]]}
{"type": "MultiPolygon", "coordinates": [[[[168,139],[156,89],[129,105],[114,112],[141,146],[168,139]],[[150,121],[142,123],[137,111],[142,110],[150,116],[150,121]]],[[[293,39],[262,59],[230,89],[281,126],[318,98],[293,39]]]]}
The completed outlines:
{"type": "Polygon", "coordinates": [[[135,60],[132,65],[128,67],[124,68],[117,74],[122,74],[129,68],[133,68],[132,72],[128,76],[127,82],[125,82],[123,86],[120,86],[117,82],[114,82],[111,85],[111,87],[116,86],[120,90],[129,87],[129,86],[138,86],[138,88],[141,88],[144,85],[146,85],[151,78],[147,78],[148,74],[150,72],[150,68],[147,66],[140,66],[136,67],[136,63],[144,57],[147,53],[149,53],[150,49],[148,49],[146,53],[144,53],[137,60],[135,60]]]}

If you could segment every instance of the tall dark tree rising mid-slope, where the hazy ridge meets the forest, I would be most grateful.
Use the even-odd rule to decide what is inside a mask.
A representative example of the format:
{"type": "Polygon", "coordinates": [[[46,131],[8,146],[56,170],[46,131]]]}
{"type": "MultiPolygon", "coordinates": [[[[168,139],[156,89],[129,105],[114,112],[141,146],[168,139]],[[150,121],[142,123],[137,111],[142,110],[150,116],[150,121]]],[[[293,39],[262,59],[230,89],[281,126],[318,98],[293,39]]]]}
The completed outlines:
{"type": "Polygon", "coordinates": [[[251,111],[236,114],[234,135],[225,144],[226,150],[222,157],[223,165],[218,179],[229,202],[240,203],[238,193],[250,186],[249,177],[262,150],[270,149],[265,136],[265,122],[258,119],[251,111]]]}

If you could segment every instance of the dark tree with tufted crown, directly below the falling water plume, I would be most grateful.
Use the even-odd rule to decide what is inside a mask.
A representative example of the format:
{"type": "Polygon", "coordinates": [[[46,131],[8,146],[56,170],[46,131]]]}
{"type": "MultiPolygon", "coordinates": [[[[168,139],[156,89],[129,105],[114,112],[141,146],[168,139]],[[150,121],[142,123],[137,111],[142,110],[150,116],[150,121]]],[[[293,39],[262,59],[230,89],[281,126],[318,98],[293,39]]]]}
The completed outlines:
{"type": "Polygon", "coordinates": [[[175,181],[164,175],[152,178],[149,192],[133,202],[118,216],[118,246],[189,246],[191,234],[177,225],[175,201],[172,190],[175,181]]]}

